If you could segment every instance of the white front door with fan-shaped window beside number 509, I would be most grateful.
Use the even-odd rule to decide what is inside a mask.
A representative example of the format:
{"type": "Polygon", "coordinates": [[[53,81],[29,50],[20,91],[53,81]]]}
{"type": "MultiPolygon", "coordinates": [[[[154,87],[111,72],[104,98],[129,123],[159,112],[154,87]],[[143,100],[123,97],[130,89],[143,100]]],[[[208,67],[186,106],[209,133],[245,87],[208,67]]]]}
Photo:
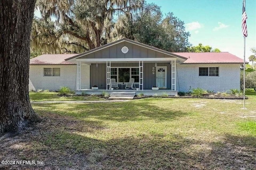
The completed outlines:
{"type": "Polygon", "coordinates": [[[156,67],[156,86],[159,88],[166,88],[166,77],[167,77],[167,67],[158,66],[156,67]]]}

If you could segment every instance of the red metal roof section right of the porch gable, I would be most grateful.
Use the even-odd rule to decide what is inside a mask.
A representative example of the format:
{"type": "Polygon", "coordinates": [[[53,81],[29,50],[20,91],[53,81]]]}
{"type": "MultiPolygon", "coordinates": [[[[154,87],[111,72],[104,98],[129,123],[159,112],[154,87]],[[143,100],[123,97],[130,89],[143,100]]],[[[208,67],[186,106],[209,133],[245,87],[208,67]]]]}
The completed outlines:
{"type": "Polygon", "coordinates": [[[186,57],[187,60],[184,64],[192,63],[244,63],[243,59],[236,57],[228,52],[220,53],[174,53],[182,57],[186,57]]]}

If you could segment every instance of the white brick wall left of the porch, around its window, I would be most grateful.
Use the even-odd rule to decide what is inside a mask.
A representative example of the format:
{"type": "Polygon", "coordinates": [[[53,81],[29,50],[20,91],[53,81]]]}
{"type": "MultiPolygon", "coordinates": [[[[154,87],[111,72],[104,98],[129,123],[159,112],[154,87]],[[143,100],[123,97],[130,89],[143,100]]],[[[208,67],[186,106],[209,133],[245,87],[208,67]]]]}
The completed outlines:
{"type": "MultiPolygon", "coordinates": [[[[76,90],[76,65],[30,65],[29,78],[35,90],[57,91],[61,86],[76,90]],[[59,77],[44,75],[44,68],[60,68],[59,77]]],[[[81,66],[81,89],[90,88],[90,66],[81,66]]]]}

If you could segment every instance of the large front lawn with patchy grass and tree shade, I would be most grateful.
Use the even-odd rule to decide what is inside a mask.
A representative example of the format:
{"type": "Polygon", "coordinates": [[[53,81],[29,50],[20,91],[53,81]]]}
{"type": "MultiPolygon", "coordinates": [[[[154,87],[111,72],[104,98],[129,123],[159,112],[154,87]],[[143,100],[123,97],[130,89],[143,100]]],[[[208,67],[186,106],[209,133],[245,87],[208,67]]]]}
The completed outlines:
{"type": "Polygon", "coordinates": [[[41,160],[46,169],[256,169],[256,93],[248,92],[246,110],[242,100],[197,98],[33,104],[42,121],[0,140],[0,160],[41,160]]]}

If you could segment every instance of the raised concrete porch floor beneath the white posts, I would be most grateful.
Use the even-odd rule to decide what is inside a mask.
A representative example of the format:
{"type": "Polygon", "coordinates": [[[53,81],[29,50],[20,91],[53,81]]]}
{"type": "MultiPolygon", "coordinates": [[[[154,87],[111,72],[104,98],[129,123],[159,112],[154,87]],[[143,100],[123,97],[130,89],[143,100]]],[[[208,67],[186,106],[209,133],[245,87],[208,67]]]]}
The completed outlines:
{"type": "Polygon", "coordinates": [[[137,94],[143,93],[145,96],[154,96],[154,95],[162,95],[167,94],[168,96],[175,96],[178,94],[178,91],[176,90],[170,90],[170,89],[159,89],[159,90],[152,90],[152,89],[144,89],[144,90],[133,90],[133,89],[114,89],[114,90],[106,90],[106,89],[98,89],[98,90],[92,90],[92,89],[81,89],[81,90],[75,90],[76,94],[102,94],[102,92],[105,91],[108,94],[111,94],[112,92],[136,92],[137,94]]]}

